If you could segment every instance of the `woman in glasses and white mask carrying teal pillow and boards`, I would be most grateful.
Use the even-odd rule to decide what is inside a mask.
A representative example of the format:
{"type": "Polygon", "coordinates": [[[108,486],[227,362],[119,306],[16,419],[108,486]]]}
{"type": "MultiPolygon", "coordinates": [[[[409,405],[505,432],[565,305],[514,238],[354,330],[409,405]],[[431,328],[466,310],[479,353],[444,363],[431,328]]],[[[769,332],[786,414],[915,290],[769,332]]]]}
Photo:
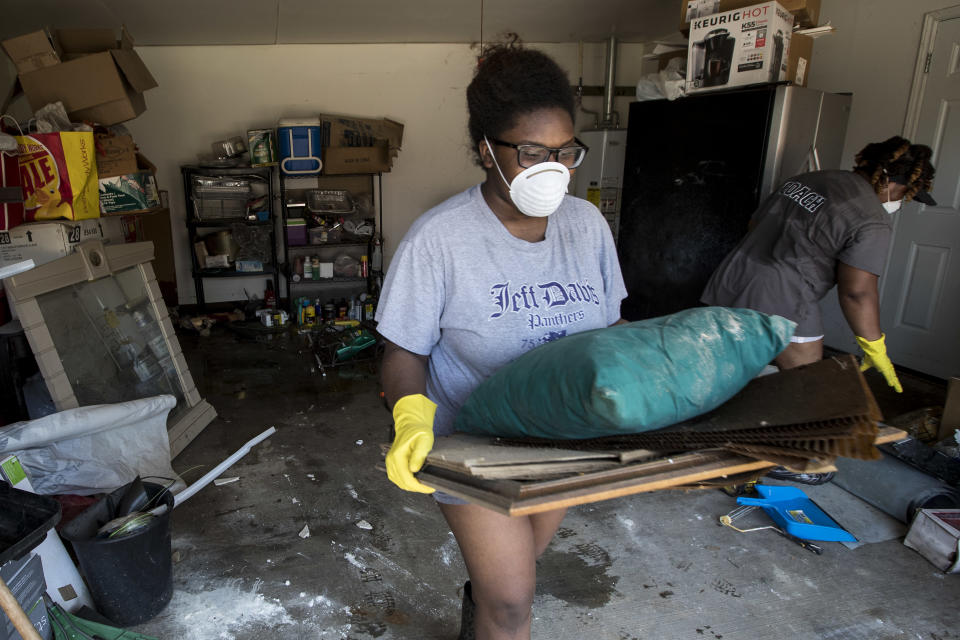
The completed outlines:
{"type": "MultiPolygon", "coordinates": [[[[396,432],[387,473],[407,491],[433,492],[413,473],[477,385],[537,345],[617,323],[626,297],[604,218],[566,195],[587,148],[563,70],[537,51],[491,47],[467,106],[486,180],[413,224],[377,309],[396,432]]],[[[565,510],[507,517],[434,497],[470,575],[460,637],[529,638],[536,559],[565,510]]]]}

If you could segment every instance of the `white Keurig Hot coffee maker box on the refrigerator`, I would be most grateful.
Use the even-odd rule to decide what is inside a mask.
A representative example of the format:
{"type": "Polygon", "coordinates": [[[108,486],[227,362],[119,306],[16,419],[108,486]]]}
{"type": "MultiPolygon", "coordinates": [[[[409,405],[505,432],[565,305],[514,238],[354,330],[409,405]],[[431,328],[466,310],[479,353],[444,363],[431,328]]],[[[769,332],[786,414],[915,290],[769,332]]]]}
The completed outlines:
{"type": "Polygon", "coordinates": [[[778,2],[695,18],[687,93],[787,79],[793,16],[778,2]]]}

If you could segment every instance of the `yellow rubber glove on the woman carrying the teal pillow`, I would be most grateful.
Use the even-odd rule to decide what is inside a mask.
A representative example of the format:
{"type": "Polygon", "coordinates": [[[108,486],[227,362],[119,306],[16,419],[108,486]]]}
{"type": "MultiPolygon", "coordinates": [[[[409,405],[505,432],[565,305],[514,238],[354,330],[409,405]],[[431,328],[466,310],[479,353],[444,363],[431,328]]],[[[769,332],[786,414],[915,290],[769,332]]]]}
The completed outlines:
{"type": "Polygon", "coordinates": [[[387,452],[387,477],[404,491],[433,493],[413,474],[423,467],[433,449],[433,415],[437,405],[417,393],[403,396],[393,405],[393,429],[396,436],[387,452]]]}

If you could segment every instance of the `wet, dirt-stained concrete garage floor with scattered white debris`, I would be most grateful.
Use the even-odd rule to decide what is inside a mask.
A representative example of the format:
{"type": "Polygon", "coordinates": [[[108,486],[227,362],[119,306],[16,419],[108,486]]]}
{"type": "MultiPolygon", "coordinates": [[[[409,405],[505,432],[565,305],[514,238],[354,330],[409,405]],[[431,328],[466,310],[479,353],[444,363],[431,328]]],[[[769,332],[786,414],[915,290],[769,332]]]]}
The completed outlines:
{"type": "MultiPolygon", "coordinates": [[[[188,482],[264,429],[277,433],[224,474],[238,482],[176,509],[173,599],[136,630],[164,640],[456,638],[466,571],[433,500],[375,468],[390,418],[372,368],[322,376],[295,338],[219,327],[181,345],[220,415],[174,460],[188,482]]],[[[882,381],[870,381],[883,405],[882,381]]],[[[898,413],[943,401],[935,385],[905,386],[889,400],[898,413]]],[[[859,503],[846,496],[831,500],[859,503]]],[[[539,564],[533,637],[960,638],[960,576],[899,539],[823,543],[817,556],[771,531],[717,525],[734,506],[706,490],[571,509],[539,564]]],[[[871,509],[854,506],[869,522],[871,509]]]]}

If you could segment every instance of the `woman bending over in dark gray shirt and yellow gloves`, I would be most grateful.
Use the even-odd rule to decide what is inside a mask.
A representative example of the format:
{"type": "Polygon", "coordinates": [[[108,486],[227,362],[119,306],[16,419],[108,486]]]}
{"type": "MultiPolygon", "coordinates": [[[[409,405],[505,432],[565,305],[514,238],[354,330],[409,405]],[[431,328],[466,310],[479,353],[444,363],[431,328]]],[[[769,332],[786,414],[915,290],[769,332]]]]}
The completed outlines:
{"type": "Polygon", "coordinates": [[[837,285],[840,308],[863,349],[862,370],[901,391],[880,330],[877,281],[890,245],[890,214],[903,200],[936,204],[930,147],[894,136],[868,144],[853,171],[791,178],[761,203],[750,231],[714,271],[700,300],[797,323],[781,369],[823,357],[820,299],[837,285]]]}

